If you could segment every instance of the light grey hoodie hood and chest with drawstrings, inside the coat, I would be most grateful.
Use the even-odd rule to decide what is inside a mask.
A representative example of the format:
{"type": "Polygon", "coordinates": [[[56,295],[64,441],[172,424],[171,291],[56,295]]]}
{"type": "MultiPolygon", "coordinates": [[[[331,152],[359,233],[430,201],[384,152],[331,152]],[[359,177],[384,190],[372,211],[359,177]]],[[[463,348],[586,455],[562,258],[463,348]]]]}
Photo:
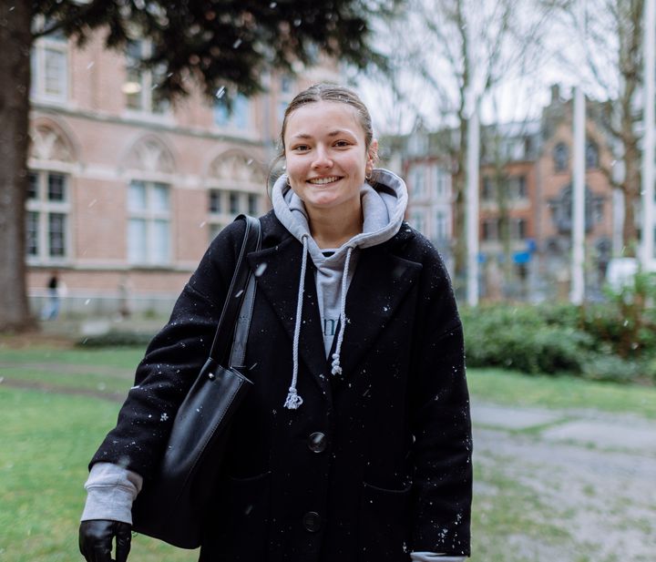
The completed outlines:
{"type": "Polygon", "coordinates": [[[296,391],[298,379],[298,348],[301,338],[301,315],[307,257],[314,266],[317,301],[323,327],[323,344],[326,355],[332,354],[333,375],[342,374],[340,353],[346,318],[346,293],[357,263],[359,250],[370,248],[390,240],[401,228],[407,206],[405,182],[386,169],[374,170],[375,182],[364,183],[360,188],[363,208],[363,231],[346,241],[340,248],[320,249],[313,240],[307,210],[290,187],[287,176],[282,175],[273,185],[273,211],[282,225],[302,243],[302,265],[296,305],[296,325],[293,337],[293,372],[284,407],[295,410],[302,404],[302,397],[296,391]],[[334,335],[337,341],[334,342],[334,335]]]}

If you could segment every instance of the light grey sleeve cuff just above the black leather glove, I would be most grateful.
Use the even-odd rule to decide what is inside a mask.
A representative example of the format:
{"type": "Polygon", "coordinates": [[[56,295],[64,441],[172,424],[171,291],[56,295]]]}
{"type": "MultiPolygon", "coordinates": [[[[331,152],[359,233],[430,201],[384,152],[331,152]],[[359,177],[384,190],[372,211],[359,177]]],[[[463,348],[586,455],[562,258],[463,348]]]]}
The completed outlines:
{"type": "Polygon", "coordinates": [[[136,472],[111,463],[96,463],[85,484],[87,503],[80,520],[108,519],[132,525],[132,502],[142,484],[143,478],[136,472]]]}

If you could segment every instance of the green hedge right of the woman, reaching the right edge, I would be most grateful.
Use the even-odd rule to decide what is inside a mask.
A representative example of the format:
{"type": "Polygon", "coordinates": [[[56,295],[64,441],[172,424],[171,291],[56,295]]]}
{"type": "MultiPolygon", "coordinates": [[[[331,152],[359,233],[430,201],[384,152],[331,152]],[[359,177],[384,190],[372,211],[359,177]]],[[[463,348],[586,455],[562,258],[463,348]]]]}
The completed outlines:
{"type": "Polygon", "coordinates": [[[467,365],[656,383],[656,277],[639,274],[603,303],[464,308],[467,365]]]}

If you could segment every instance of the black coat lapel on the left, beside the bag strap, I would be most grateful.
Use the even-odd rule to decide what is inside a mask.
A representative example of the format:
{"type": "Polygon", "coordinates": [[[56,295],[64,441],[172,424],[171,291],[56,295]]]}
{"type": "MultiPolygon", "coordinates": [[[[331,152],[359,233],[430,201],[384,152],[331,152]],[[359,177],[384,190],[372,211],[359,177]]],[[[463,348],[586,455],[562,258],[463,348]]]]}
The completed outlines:
{"type": "MultiPolygon", "coordinates": [[[[301,279],[302,246],[298,240],[290,237],[272,248],[252,252],[249,254],[248,260],[251,270],[257,275],[258,291],[261,291],[269,301],[273,312],[289,336],[289,342],[285,342],[283,345],[289,345],[292,349],[301,279]]],[[[313,268],[313,262],[308,256],[303,291],[299,360],[305,363],[316,383],[330,400],[329,366],[323,347],[313,268]]],[[[289,374],[291,377],[292,373],[289,374]]]]}

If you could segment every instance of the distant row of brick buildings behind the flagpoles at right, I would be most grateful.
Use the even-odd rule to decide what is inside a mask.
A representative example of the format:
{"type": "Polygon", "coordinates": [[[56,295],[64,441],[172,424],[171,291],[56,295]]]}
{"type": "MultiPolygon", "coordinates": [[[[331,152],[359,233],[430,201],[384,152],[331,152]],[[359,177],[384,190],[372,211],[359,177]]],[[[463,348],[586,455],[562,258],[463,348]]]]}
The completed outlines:
{"type": "MultiPolygon", "coordinates": [[[[589,102],[593,104],[595,102],[589,102]]],[[[586,283],[600,289],[611,255],[610,144],[589,112],[586,148],[586,283]]],[[[388,139],[400,151],[410,194],[407,218],[450,262],[454,230],[451,156],[455,130],[388,139]],[[445,178],[447,176],[447,178],[445,178]]],[[[481,128],[481,296],[567,298],[571,249],[572,103],[559,88],[541,118],[481,128]]]]}

